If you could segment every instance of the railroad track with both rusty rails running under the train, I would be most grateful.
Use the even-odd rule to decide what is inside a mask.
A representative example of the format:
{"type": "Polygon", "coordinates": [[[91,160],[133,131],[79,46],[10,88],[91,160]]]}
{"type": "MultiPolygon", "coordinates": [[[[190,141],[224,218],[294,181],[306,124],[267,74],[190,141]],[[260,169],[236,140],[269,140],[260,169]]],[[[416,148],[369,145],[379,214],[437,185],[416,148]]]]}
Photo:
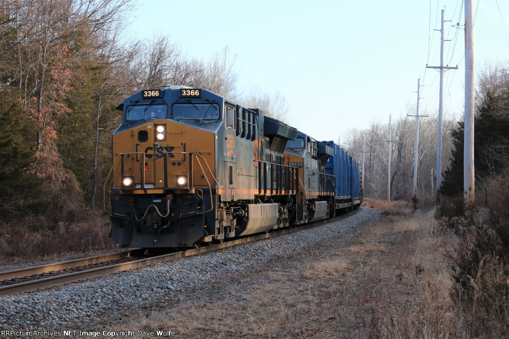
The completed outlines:
{"type": "Polygon", "coordinates": [[[143,256],[144,250],[135,249],[102,256],[0,272],[0,285],[4,285],[0,286],[0,295],[33,291],[41,288],[93,278],[99,275],[121,272],[178,258],[189,257],[200,253],[212,252],[219,249],[229,248],[241,243],[272,238],[282,234],[305,230],[308,228],[338,221],[352,215],[356,211],[358,211],[358,209],[351,213],[341,215],[340,217],[322,220],[311,224],[305,224],[294,228],[247,236],[239,239],[225,241],[223,243],[200,247],[197,249],[179,251],[149,258],[136,259],[137,257],[143,256]],[[98,267],[95,267],[94,265],[98,267]]]}

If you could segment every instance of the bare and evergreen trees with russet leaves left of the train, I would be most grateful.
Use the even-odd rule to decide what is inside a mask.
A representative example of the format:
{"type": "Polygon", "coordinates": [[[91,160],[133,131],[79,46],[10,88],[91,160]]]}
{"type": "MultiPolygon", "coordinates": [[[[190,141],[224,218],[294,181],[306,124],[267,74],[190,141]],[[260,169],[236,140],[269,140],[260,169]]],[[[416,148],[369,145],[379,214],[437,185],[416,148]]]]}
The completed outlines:
{"type": "MultiPolygon", "coordinates": [[[[202,60],[167,36],[131,39],[126,23],[135,5],[130,0],[0,0],[0,245],[5,255],[21,255],[15,249],[21,243],[41,242],[51,232],[69,239],[71,225],[99,215],[94,211],[103,205],[111,134],[122,119],[115,107],[126,97],[174,84],[222,94],[234,87],[235,56],[227,46],[202,60]]],[[[83,242],[82,234],[75,237],[83,242]]]]}

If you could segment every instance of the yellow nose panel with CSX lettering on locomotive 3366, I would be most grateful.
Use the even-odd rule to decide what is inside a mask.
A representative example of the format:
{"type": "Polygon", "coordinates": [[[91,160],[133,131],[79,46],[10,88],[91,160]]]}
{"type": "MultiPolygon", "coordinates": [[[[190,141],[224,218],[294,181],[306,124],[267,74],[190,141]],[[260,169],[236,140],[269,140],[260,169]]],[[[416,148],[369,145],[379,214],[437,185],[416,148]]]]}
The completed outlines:
{"type": "Polygon", "coordinates": [[[214,164],[214,133],[209,131],[156,119],[115,134],[113,150],[113,188],[121,194],[194,192],[214,182],[214,166],[200,166],[214,164]]]}

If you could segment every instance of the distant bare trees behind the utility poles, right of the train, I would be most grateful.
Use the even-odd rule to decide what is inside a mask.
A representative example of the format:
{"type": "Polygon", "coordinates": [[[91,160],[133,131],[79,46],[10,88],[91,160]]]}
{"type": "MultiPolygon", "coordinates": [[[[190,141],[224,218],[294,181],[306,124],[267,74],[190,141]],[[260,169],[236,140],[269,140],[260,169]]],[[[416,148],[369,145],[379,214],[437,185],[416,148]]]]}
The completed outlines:
{"type": "MultiPolygon", "coordinates": [[[[436,159],[438,114],[419,112],[428,117],[419,118],[419,147],[417,151],[417,197],[434,199],[436,190],[436,159]]],[[[352,130],[343,145],[362,166],[364,143],[364,196],[387,199],[387,171],[389,147],[391,148],[390,195],[391,199],[410,199],[413,196],[415,109],[391,120],[391,140],[388,141],[389,115],[387,121],[374,121],[365,131],[352,130]]],[[[445,112],[442,120],[442,168],[450,162],[453,141],[451,131],[456,121],[445,112]]]]}

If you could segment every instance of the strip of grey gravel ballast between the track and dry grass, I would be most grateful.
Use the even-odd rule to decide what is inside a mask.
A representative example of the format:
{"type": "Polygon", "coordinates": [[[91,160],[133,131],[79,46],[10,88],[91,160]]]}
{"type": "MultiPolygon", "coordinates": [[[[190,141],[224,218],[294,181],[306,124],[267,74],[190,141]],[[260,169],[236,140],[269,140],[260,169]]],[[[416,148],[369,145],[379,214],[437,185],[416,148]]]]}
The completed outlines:
{"type": "Polygon", "coordinates": [[[99,319],[116,317],[117,309],[139,309],[309,246],[326,248],[330,241],[349,238],[380,218],[379,210],[360,208],[345,219],[303,231],[84,282],[0,296],[0,328],[14,331],[92,330],[99,319]]]}

